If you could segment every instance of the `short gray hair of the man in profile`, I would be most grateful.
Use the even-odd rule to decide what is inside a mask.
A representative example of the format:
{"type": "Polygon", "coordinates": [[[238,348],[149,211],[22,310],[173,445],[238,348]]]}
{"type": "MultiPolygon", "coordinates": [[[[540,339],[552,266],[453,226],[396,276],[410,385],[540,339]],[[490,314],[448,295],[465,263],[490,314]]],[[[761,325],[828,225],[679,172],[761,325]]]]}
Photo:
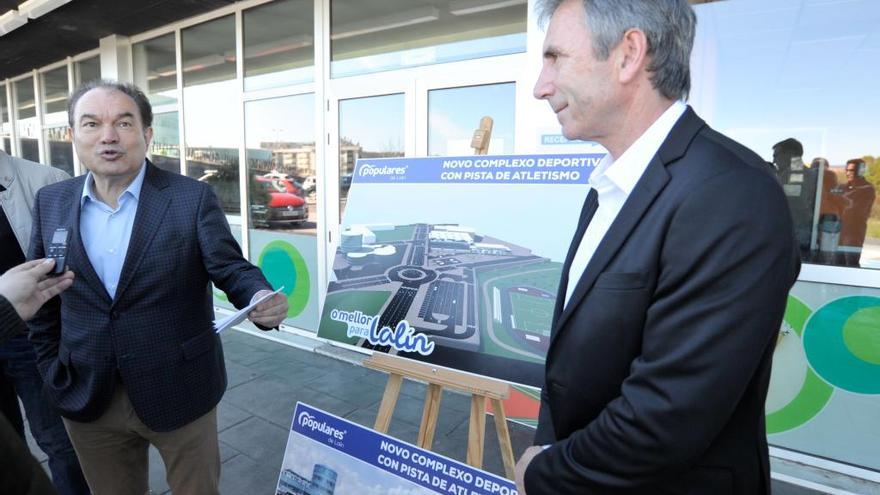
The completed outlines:
{"type": "MultiPolygon", "coordinates": [[[[542,26],[565,0],[538,0],[542,26]]],[[[581,0],[592,33],[593,56],[607,60],[628,29],[648,38],[651,84],[664,97],[685,99],[691,89],[691,47],[697,18],[687,0],[581,0]]]]}

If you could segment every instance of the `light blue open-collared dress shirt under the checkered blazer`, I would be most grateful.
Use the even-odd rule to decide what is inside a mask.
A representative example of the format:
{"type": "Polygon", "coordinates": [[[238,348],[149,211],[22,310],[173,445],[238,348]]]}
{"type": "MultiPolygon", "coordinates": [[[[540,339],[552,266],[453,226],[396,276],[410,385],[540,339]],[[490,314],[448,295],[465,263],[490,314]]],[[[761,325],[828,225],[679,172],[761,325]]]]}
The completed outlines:
{"type": "Polygon", "coordinates": [[[98,278],[107,289],[107,294],[116,297],[116,287],[122,273],[122,264],[128,253],[131,227],[137,213],[138,198],[144,185],[146,163],[141,165],[137,176],[123,191],[114,210],[98,199],[92,191],[92,173],[86,177],[83,195],[80,199],[79,231],[86,254],[98,278]]]}

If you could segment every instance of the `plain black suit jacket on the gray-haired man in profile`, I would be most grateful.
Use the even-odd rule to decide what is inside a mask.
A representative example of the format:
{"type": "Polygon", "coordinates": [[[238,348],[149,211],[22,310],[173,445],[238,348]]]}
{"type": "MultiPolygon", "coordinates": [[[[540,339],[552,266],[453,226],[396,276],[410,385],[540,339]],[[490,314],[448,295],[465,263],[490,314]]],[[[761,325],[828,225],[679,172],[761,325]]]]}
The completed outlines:
{"type": "Polygon", "coordinates": [[[769,493],[764,401],[800,264],[766,164],[688,108],[568,282],[587,223],[527,493],[769,493]]]}

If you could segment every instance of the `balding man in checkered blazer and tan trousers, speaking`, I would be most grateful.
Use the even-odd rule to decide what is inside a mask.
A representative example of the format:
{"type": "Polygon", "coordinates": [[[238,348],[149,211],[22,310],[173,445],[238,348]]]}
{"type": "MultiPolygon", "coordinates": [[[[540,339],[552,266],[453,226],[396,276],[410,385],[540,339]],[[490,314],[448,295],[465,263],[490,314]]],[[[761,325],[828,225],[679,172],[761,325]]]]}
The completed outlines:
{"type": "MultiPolygon", "coordinates": [[[[210,186],[146,159],[152,109],[131,85],[88,83],[68,102],[89,170],[37,195],[31,258],[59,228],[76,273],[30,322],[50,400],[95,495],[142,495],[156,446],[175,493],[217,493],[216,405],[226,390],[211,283],[236,307],[271,286],[241,255],[210,186]]],[[[249,318],[281,323],[276,294],[249,318]]]]}

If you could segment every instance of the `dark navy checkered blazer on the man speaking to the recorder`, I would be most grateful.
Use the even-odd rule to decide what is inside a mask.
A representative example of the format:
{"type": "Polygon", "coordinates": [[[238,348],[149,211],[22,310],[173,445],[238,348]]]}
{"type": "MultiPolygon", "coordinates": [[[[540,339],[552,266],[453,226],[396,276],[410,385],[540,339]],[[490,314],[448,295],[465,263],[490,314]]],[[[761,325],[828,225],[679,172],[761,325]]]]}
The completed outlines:
{"type": "Polygon", "coordinates": [[[95,273],[79,230],[85,176],[41,189],[30,259],[58,227],[71,231],[73,286],[29,322],[46,393],[61,414],[88,422],[121,379],[138,417],[170,431],[210,411],[226,389],[212,321],[211,282],[236,307],[270,285],[241,255],[210,186],[147,162],[116,297],[95,273]]]}

